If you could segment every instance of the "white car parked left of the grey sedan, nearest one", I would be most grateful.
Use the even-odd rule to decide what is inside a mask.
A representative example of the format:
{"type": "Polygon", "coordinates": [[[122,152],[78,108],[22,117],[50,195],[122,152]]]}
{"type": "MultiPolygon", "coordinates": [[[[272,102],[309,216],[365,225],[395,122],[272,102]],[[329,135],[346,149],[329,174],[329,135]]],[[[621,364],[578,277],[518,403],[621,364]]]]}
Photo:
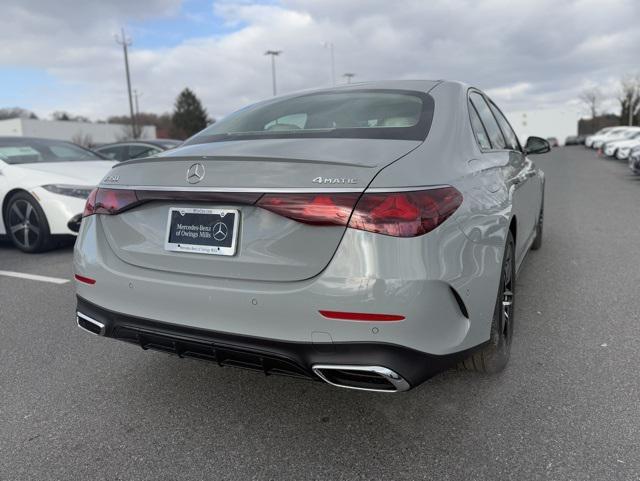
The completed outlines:
{"type": "Polygon", "coordinates": [[[0,236],[42,252],[76,235],[91,189],[115,163],[70,142],[0,137],[0,236]]]}

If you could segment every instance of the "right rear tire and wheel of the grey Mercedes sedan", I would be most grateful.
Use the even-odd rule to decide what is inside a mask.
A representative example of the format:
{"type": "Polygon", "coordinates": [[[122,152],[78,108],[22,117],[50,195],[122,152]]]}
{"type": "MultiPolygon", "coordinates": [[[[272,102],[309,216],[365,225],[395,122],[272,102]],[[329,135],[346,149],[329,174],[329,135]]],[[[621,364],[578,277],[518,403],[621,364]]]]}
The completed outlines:
{"type": "Polygon", "coordinates": [[[462,369],[495,374],[502,371],[509,362],[514,327],[515,280],[515,243],[509,232],[502,259],[489,343],[463,361],[460,365],[462,369]]]}

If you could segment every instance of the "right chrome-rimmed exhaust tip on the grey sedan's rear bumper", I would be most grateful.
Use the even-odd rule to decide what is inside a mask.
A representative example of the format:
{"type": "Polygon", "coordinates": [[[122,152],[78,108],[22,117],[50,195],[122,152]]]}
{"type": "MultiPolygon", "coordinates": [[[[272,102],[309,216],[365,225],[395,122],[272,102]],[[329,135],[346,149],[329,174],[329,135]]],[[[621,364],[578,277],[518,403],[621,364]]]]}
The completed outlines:
{"type": "Polygon", "coordinates": [[[382,366],[315,364],[311,369],[324,382],[345,389],[401,392],[411,387],[400,374],[382,366]]]}

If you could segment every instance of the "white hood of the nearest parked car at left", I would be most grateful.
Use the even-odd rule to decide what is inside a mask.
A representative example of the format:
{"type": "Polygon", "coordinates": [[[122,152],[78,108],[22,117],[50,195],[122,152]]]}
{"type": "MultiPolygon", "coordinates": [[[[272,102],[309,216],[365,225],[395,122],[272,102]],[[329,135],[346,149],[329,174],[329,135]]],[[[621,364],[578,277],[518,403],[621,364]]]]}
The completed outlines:
{"type": "Polygon", "coordinates": [[[109,160],[90,160],[34,162],[32,164],[18,164],[16,167],[41,174],[37,175],[37,177],[49,177],[52,182],[95,186],[100,183],[102,178],[115,164],[117,164],[117,162],[109,160]]]}

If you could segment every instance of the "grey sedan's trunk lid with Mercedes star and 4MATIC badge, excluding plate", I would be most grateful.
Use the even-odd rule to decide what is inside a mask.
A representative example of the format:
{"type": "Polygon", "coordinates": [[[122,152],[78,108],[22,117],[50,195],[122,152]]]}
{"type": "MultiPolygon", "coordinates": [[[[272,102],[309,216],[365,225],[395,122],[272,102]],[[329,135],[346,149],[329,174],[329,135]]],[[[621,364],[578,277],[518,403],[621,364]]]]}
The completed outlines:
{"type": "Polygon", "coordinates": [[[298,222],[257,207],[255,201],[267,193],[357,196],[380,169],[419,144],[269,139],[187,146],[113,169],[102,187],[136,190],[142,193],[139,197],[154,200],[118,215],[100,216],[100,222],[115,254],[139,267],[229,279],[303,280],[327,266],[345,227],[298,222]],[[238,211],[234,255],[168,250],[171,208],[238,211]]]}

